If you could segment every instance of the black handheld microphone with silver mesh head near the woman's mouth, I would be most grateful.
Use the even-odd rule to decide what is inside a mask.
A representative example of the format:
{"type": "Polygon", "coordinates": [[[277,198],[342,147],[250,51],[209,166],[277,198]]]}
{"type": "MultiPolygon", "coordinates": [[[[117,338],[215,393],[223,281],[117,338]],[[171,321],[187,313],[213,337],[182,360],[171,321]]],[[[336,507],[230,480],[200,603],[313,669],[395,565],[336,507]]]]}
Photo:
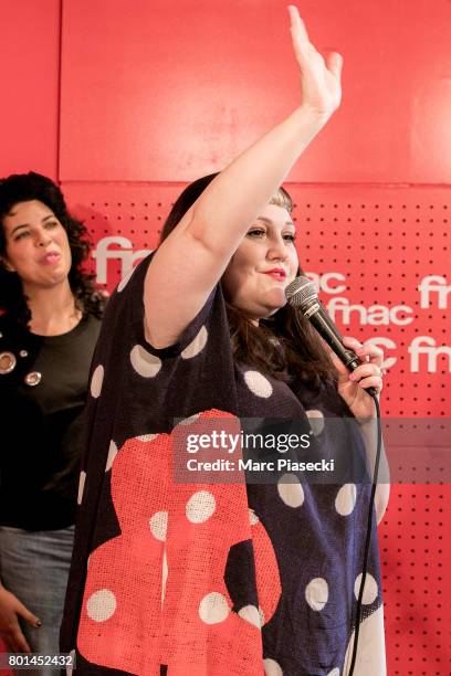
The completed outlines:
{"type": "MultiPolygon", "coordinates": [[[[293,279],[285,288],[285,296],[289,305],[298,307],[304,317],[313,324],[348,371],[354,371],[363,363],[353,350],[343,345],[343,337],[319,300],[314,283],[308,277],[301,276],[293,279]]],[[[365,388],[365,391],[370,397],[376,397],[375,388],[365,388]]]]}

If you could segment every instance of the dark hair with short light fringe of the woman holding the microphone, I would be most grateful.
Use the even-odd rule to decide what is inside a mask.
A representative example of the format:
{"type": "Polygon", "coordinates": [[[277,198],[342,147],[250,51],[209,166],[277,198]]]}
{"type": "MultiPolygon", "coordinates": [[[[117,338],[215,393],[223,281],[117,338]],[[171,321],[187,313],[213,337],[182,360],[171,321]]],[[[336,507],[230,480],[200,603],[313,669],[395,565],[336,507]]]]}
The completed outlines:
{"type": "MultiPolygon", "coordinates": [[[[160,243],[197,201],[218,173],[204,176],[189,186],[176,200],[160,234],[160,243]]],[[[293,201],[284,188],[279,188],[270,204],[293,210],[293,201]]],[[[304,274],[300,267],[298,275],[304,274]]],[[[297,378],[313,391],[322,384],[336,388],[337,371],[324,344],[301,310],[285,305],[256,327],[241,310],[226,302],[232,349],[237,360],[255,366],[280,380],[297,378]]]]}

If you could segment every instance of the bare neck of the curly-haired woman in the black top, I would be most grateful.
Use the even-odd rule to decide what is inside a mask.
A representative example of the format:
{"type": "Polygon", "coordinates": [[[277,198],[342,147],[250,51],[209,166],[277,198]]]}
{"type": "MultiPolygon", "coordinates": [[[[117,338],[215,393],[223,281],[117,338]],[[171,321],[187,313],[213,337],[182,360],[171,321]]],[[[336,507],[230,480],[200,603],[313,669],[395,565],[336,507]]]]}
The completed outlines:
{"type": "Polygon", "coordinates": [[[29,287],[23,293],[31,311],[30,329],[40,336],[59,336],[76,326],[82,313],[75,307],[75,298],[67,279],[51,288],[29,287]]]}

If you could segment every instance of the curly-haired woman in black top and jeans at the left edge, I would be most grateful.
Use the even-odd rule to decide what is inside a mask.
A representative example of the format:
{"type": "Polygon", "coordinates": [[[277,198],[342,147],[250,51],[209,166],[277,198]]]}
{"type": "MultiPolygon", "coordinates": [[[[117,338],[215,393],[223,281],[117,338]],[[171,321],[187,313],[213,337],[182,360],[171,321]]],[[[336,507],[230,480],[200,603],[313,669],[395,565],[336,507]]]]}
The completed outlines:
{"type": "Polygon", "coordinates": [[[87,231],[49,178],[0,180],[0,634],[57,653],[103,297],[82,270],[87,231]]]}

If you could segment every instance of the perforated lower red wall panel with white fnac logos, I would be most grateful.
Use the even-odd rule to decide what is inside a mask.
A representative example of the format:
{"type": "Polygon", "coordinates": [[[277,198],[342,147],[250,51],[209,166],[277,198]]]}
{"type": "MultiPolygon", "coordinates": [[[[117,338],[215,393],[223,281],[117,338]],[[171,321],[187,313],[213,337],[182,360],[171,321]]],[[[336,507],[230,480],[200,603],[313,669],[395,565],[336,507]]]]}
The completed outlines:
{"type": "MultiPolygon", "coordinates": [[[[63,184],[96,241],[92,265],[107,288],[157,245],[158,230],[182,187],[63,184]]],[[[384,415],[444,420],[451,369],[451,348],[447,348],[450,191],[300,183],[287,188],[296,203],[300,258],[319,283],[322,298],[335,313],[339,328],[363,339],[390,341],[387,358],[396,361],[386,380],[384,415]],[[431,275],[439,279],[423,284],[420,292],[419,286],[431,275]],[[420,337],[418,345],[426,346],[426,351],[412,349],[420,337]],[[424,338],[433,340],[436,349],[447,349],[438,355],[424,338]]],[[[445,448],[443,443],[443,437],[432,439],[429,451],[448,453],[449,443],[445,448]]],[[[406,464],[394,471],[398,477],[406,472],[408,485],[392,486],[379,527],[388,673],[444,676],[451,674],[447,603],[451,584],[445,572],[451,554],[445,538],[451,490],[445,479],[441,485],[426,485],[424,473],[419,472],[415,479],[411,450],[398,448],[406,464]]]]}

